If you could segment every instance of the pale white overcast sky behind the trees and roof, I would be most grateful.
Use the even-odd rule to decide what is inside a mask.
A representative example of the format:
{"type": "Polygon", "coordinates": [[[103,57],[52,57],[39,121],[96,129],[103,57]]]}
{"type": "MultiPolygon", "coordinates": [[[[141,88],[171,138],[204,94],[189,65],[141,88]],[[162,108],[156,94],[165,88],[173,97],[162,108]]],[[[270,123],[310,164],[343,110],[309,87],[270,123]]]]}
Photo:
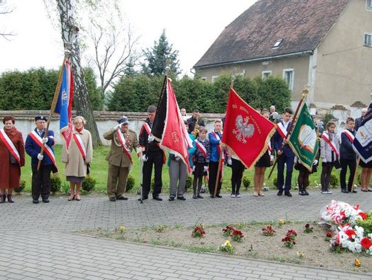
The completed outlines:
{"type": "MultiPolygon", "coordinates": [[[[0,38],[0,73],[30,67],[59,67],[63,59],[61,34],[48,19],[43,0],[7,2],[14,12],[0,16],[0,31],[12,31],[17,36],[11,41],[0,38]]],[[[122,0],[121,7],[134,35],[140,37],[137,49],[152,47],[165,28],[169,43],[179,51],[183,74],[188,74],[225,26],[254,2],[122,0]]]]}

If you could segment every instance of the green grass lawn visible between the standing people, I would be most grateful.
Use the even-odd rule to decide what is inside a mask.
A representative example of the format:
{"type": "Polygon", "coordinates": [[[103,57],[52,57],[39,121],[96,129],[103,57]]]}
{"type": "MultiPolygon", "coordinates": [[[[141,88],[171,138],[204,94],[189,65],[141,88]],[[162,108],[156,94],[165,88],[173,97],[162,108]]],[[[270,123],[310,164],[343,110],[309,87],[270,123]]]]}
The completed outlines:
{"type": "MultiPolygon", "coordinates": [[[[56,156],[56,162],[59,166],[59,176],[62,180],[62,186],[63,189],[69,189],[68,182],[65,181],[65,169],[64,164],[61,162],[61,145],[56,145],[54,147],[54,155],[56,156]]],[[[107,162],[105,160],[105,157],[107,153],[109,152],[110,147],[109,146],[103,146],[94,149],[93,153],[93,161],[91,164],[91,176],[96,180],[96,189],[95,191],[98,193],[105,193],[106,191],[106,184],[107,184],[107,162]]],[[[134,160],[133,168],[130,174],[134,177],[135,180],[135,186],[134,189],[132,189],[132,193],[135,193],[137,189],[140,187],[140,170],[139,170],[139,160],[136,157],[136,153],[132,153],[132,158],[134,160]]],[[[25,180],[25,191],[30,192],[31,191],[31,159],[28,155],[26,155],[25,160],[25,166],[22,167],[21,170],[21,180],[25,180]]],[[[273,189],[273,178],[276,178],[276,170],[273,171],[273,174],[271,175],[270,179],[267,179],[267,176],[269,175],[270,169],[267,169],[266,171],[266,178],[265,178],[265,184],[266,186],[270,186],[271,189],[273,189]]],[[[318,168],[318,172],[310,175],[310,189],[316,188],[319,189],[318,184],[320,184],[320,171],[321,169],[318,168]]],[[[339,177],[339,171],[333,170],[333,173],[339,177]]],[[[358,174],[360,171],[358,171],[358,174]]],[[[154,173],[153,173],[154,175],[154,173]]],[[[297,184],[297,175],[298,171],[293,171],[293,177],[292,177],[292,186],[296,186],[297,184]]],[[[253,188],[253,176],[254,176],[254,169],[246,170],[244,173],[244,176],[249,177],[251,180],[250,188],[253,188]]],[[[231,184],[230,184],[230,178],[231,178],[231,169],[229,167],[225,167],[224,170],[224,177],[223,177],[223,193],[229,193],[231,191],[231,184]]],[[[244,191],[245,188],[242,186],[242,191],[244,191]]],[[[167,193],[169,191],[169,174],[168,174],[168,166],[163,166],[163,193],[167,193]]],[[[251,191],[251,190],[249,190],[251,191]]]]}

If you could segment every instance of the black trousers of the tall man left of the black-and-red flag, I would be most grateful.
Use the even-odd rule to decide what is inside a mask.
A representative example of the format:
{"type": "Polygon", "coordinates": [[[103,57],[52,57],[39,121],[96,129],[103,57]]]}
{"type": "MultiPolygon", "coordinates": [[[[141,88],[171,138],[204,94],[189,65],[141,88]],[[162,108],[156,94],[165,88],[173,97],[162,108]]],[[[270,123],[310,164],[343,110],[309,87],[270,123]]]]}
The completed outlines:
{"type": "Polygon", "coordinates": [[[154,191],[152,197],[157,197],[161,193],[163,182],[161,180],[161,171],[163,170],[163,151],[149,151],[146,153],[147,162],[143,162],[143,198],[149,196],[151,188],[152,166],[154,165],[154,191]]]}

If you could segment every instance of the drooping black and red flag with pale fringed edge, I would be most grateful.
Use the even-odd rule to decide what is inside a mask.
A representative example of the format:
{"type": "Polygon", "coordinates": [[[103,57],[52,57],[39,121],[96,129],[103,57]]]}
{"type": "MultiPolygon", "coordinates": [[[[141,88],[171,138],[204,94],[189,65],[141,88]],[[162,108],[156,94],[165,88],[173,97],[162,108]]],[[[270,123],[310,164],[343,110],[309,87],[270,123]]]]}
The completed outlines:
{"type": "Polygon", "coordinates": [[[161,139],[160,147],[169,151],[185,162],[187,171],[190,174],[192,168],[189,163],[189,147],[192,147],[192,140],[187,133],[185,122],[180,114],[180,109],[174,94],[172,80],[165,77],[163,92],[156,109],[152,135],[161,139]]]}

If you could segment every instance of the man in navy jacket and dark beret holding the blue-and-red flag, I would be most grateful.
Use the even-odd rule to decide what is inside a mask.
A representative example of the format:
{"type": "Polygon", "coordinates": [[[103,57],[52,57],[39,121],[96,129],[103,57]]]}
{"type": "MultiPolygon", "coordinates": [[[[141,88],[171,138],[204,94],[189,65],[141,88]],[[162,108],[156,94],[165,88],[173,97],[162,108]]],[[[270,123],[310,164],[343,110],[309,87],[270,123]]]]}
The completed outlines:
{"type": "Polygon", "coordinates": [[[28,133],[25,141],[25,151],[31,157],[32,168],[32,202],[39,203],[39,197],[44,203],[49,202],[50,195],[50,171],[56,170],[56,159],[54,158],[54,132],[48,130],[48,136],[45,136],[45,116],[35,118],[36,128],[28,133]],[[44,152],[41,155],[41,147],[44,145],[44,152]],[[40,168],[37,165],[41,160],[40,168]]]}

